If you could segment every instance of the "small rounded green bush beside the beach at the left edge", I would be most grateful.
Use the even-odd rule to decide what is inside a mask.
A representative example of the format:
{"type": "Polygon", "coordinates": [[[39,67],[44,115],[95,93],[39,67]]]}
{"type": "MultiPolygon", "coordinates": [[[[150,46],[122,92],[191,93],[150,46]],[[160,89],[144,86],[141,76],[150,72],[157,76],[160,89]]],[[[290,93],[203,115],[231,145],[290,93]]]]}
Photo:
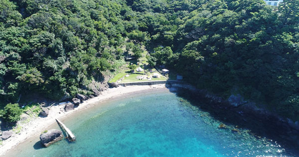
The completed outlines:
{"type": "Polygon", "coordinates": [[[20,119],[20,115],[22,114],[22,109],[15,104],[7,104],[3,110],[0,110],[0,117],[8,122],[16,122],[20,119]]]}

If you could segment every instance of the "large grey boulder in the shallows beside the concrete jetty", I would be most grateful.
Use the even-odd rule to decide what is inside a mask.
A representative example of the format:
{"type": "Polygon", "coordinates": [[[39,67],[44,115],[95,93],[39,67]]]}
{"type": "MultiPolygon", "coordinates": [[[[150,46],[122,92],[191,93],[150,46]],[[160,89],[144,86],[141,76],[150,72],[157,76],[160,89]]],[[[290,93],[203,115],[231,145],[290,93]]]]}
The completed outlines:
{"type": "Polygon", "coordinates": [[[52,129],[42,133],[39,139],[44,146],[49,147],[51,144],[63,139],[63,134],[60,130],[52,129]]]}

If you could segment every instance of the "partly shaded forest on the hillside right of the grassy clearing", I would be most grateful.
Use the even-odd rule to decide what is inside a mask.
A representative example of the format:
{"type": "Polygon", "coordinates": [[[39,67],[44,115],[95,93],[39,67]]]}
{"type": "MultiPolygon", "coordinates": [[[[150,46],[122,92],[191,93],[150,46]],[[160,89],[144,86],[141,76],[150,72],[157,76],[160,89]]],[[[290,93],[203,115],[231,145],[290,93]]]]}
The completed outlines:
{"type": "Polygon", "coordinates": [[[161,1],[128,3],[141,12],[139,30],[155,47],[149,66],[165,65],[199,88],[225,98],[237,92],[299,120],[298,0],[278,9],[262,0],[154,4],[161,1]]]}

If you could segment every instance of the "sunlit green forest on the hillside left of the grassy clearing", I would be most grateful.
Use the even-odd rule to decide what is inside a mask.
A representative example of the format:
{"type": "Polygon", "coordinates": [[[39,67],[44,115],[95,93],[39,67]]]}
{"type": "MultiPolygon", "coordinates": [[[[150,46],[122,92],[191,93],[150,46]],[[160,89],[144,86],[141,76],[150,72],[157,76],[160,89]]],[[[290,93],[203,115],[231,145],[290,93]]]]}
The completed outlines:
{"type": "MultiPolygon", "coordinates": [[[[124,36],[134,30],[126,32],[123,5],[123,0],[2,0],[1,100],[16,102],[33,92],[60,99],[87,82],[102,81],[103,72],[119,67],[124,36]]],[[[135,22],[132,28],[137,27],[135,22]]]]}

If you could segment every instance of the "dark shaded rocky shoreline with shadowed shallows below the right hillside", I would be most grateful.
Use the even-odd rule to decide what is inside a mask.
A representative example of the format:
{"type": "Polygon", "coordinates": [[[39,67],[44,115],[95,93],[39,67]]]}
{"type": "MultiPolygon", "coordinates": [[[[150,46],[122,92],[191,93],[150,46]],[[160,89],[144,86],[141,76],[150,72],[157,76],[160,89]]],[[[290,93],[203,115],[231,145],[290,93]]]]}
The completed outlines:
{"type": "MultiPolygon", "coordinates": [[[[279,116],[266,108],[258,107],[255,102],[246,101],[239,94],[223,99],[190,84],[173,83],[168,85],[168,88],[173,87],[180,88],[176,90],[179,96],[193,101],[194,104],[219,120],[247,128],[257,138],[266,137],[276,140],[299,154],[298,121],[293,122],[291,119],[279,116]]],[[[224,128],[223,126],[219,126],[219,128],[224,128]]]]}

